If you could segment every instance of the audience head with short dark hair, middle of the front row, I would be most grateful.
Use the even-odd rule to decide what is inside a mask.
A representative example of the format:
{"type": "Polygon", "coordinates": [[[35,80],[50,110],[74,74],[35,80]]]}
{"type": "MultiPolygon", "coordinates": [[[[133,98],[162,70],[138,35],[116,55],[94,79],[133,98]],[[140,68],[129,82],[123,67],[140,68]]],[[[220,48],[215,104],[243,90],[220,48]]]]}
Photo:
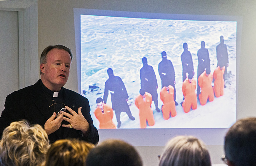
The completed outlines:
{"type": "Polygon", "coordinates": [[[93,148],[86,159],[87,166],[142,166],[136,149],[122,141],[109,139],[93,148]]]}

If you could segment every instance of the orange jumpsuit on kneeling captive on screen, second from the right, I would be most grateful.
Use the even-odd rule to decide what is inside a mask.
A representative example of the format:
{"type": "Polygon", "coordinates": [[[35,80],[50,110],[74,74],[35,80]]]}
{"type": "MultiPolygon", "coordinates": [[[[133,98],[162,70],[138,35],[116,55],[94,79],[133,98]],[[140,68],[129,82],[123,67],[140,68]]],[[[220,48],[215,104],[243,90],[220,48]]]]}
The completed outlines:
{"type": "Polygon", "coordinates": [[[198,85],[201,87],[201,93],[199,94],[199,100],[201,105],[205,105],[208,98],[209,98],[209,101],[213,101],[214,99],[213,88],[211,86],[212,79],[213,79],[212,74],[210,73],[207,77],[206,71],[204,71],[198,77],[198,85]]]}

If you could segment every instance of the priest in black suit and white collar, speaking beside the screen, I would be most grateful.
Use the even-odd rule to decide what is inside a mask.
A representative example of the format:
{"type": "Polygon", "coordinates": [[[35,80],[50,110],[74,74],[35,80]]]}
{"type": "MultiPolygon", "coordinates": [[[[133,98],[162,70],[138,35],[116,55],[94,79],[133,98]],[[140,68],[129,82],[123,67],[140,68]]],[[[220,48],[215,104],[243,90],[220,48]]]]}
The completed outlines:
{"type": "Polygon", "coordinates": [[[63,45],[51,45],[40,57],[41,79],[6,97],[0,117],[0,135],[11,122],[26,119],[41,125],[50,140],[78,138],[97,144],[99,135],[93,126],[87,98],[66,89],[73,55],[63,45]],[[58,113],[59,112],[59,113],[58,113]]]}

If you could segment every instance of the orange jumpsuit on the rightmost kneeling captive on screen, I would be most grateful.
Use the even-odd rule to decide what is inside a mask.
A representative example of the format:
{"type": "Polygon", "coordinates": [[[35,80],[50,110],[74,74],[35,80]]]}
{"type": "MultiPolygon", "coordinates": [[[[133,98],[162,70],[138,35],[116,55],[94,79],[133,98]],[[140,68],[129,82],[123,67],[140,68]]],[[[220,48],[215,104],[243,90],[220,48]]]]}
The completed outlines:
{"type": "Polygon", "coordinates": [[[213,91],[216,97],[222,96],[224,94],[224,79],[223,74],[225,72],[225,66],[223,66],[222,70],[218,66],[217,69],[213,72],[214,86],[213,91]]]}

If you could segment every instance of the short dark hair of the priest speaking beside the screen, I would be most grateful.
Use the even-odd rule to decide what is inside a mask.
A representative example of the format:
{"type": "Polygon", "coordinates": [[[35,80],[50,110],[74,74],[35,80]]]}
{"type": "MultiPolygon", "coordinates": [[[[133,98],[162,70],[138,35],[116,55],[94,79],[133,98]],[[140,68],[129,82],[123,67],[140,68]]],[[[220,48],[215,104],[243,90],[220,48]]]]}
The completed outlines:
{"type": "MultiPolygon", "coordinates": [[[[48,47],[46,47],[44,49],[44,51],[42,52],[41,56],[40,56],[40,64],[45,64],[47,63],[47,54],[54,48],[57,48],[59,50],[65,50],[69,53],[70,57],[71,57],[71,61],[73,59],[73,55],[71,53],[71,50],[63,45],[49,45],[48,47]]],[[[42,74],[42,72],[40,72],[40,74],[42,74]]]]}

